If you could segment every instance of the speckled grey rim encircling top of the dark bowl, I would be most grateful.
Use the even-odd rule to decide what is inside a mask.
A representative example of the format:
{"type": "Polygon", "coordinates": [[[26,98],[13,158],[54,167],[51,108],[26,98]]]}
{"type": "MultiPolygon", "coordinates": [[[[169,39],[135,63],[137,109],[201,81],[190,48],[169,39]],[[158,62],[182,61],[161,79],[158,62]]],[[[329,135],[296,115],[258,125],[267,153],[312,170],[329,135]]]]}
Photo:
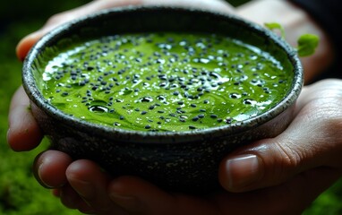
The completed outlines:
{"type": "Polygon", "coordinates": [[[104,136],[114,140],[120,140],[122,142],[141,142],[141,143],[153,143],[153,144],[165,144],[166,142],[195,142],[201,141],[208,137],[221,137],[235,133],[243,133],[247,130],[256,128],[259,125],[267,123],[269,120],[283,113],[287,107],[290,107],[295,103],[300,91],[304,84],[304,74],[302,64],[296,55],[296,51],[291,47],[284,39],[281,39],[277,34],[271,30],[267,30],[260,25],[244,20],[234,14],[213,12],[211,10],[203,10],[197,8],[184,8],[179,6],[165,6],[165,5],[133,5],[125,7],[115,7],[101,10],[97,13],[91,13],[75,19],[71,22],[66,22],[54,30],[49,31],[45,36],[36,42],[36,44],[30,48],[28,55],[25,57],[22,66],[22,85],[24,90],[29,96],[30,102],[33,102],[39,108],[42,108],[47,116],[53,117],[56,121],[62,122],[64,125],[70,127],[77,127],[78,131],[84,133],[93,133],[97,136],[104,136]],[[98,16],[106,16],[110,13],[135,13],[135,12],[153,12],[156,10],[167,10],[167,12],[174,13],[199,13],[209,14],[220,19],[229,19],[235,22],[240,22],[245,27],[251,30],[257,31],[268,39],[271,39],[278,47],[284,49],[288,56],[288,60],[291,62],[294,68],[294,80],[292,83],[292,89],[288,91],[286,96],[281,99],[278,104],[269,110],[261,113],[258,116],[253,116],[246,120],[227,125],[213,126],[205,129],[194,129],[191,131],[182,132],[149,132],[149,131],[133,131],[125,130],[117,127],[109,127],[106,125],[97,125],[77,117],[64,114],[61,110],[48,103],[40,91],[38,90],[35,78],[30,73],[30,67],[34,63],[34,60],[39,55],[39,51],[44,49],[46,43],[51,39],[60,37],[71,28],[77,28],[81,23],[87,22],[89,19],[97,18],[98,16]]]}

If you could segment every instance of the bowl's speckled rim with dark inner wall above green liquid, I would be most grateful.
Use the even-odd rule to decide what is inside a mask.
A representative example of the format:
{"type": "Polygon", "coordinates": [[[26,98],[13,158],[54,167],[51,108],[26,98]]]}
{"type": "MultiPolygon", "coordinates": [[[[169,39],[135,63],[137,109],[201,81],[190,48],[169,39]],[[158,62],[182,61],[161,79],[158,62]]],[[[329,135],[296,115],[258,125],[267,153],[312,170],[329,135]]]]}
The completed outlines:
{"type": "Polygon", "coordinates": [[[243,132],[266,123],[269,119],[281,114],[286,107],[291,106],[295,102],[302,84],[302,67],[295,50],[274,33],[231,15],[175,7],[116,8],[69,22],[40,39],[31,49],[23,67],[24,88],[30,99],[38,107],[45,109],[47,115],[56,117],[56,120],[85,132],[98,132],[107,136],[112,136],[113,133],[120,133],[120,136],[127,134],[130,136],[129,139],[134,139],[137,142],[146,142],[146,140],[159,142],[161,138],[174,140],[175,136],[178,142],[187,142],[201,140],[203,135],[220,136],[222,133],[227,135],[227,133],[243,132]],[[98,39],[103,36],[158,31],[215,33],[243,41],[281,62],[284,70],[289,71],[289,75],[292,76],[291,88],[288,89],[286,96],[279,101],[277,106],[271,107],[260,116],[243,120],[237,124],[178,133],[147,133],[94,125],[64,114],[56,107],[51,106],[41,95],[39,89],[43,82],[43,71],[40,65],[46,64],[59,50],[63,50],[73,43],[98,39]]]}

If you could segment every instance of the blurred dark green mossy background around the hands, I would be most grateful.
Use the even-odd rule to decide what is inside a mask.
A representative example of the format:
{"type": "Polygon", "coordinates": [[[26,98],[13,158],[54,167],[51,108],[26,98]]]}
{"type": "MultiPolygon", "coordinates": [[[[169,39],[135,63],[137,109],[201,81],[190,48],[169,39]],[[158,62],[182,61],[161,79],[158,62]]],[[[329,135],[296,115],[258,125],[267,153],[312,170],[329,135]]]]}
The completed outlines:
{"type": "MultiPolygon", "coordinates": [[[[231,0],[241,4],[248,0],[231,0]]],[[[47,148],[44,141],[30,152],[13,152],[6,143],[8,107],[13,92],[21,84],[21,62],[15,56],[19,40],[38,30],[52,14],[86,4],[89,0],[12,0],[0,4],[0,214],[4,215],[77,215],[65,209],[50,191],[42,188],[31,172],[35,156],[47,148]]],[[[342,181],[312,203],[304,214],[342,214],[342,181]]]]}

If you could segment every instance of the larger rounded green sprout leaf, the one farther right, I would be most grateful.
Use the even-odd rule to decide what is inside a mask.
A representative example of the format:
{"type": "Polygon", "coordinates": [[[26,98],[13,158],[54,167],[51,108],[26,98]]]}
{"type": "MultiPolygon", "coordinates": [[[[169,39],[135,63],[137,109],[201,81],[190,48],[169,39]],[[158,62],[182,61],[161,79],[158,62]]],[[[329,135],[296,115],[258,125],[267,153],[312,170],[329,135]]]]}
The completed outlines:
{"type": "Polygon", "coordinates": [[[311,56],[320,42],[320,38],[313,34],[304,34],[298,40],[298,56],[311,56]]]}

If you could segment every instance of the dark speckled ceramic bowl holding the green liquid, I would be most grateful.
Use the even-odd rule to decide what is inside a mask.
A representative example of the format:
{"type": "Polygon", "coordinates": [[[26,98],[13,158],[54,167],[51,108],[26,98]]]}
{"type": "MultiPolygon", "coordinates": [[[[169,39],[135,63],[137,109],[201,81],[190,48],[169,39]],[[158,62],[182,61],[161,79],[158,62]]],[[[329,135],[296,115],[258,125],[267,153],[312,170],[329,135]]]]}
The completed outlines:
{"type": "Polygon", "coordinates": [[[163,188],[208,192],[218,187],[218,165],[229,152],[249,142],[278,135],[292,119],[303,84],[295,50],[269,30],[234,16],[174,7],[116,8],[92,14],[52,30],[30,50],[23,66],[23,86],[38,124],[51,147],[73,159],[92,159],[113,176],[141,176],[163,188]],[[276,107],[242,122],[175,133],[128,131],[94,125],[50,105],[37,87],[37,59],[59,41],[72,43],[121,32],[204,31],[240,39],[269,52],[294,73],[292,89],[276,107]]]}

